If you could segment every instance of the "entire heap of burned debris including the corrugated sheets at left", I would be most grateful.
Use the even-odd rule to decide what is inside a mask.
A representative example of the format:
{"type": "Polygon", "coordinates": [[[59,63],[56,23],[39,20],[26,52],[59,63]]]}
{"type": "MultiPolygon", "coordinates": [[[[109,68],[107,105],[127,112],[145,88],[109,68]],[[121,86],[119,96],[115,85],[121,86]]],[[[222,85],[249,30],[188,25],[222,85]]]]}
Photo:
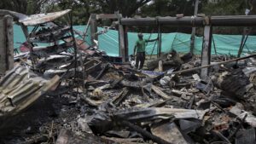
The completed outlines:
{"type": "Polygon", "coordinates": [[[16,57],[15,68],[1,78],[0,128],[43,97],[57,101],[44,122],[27,124],[3,142],[255,143],[255,55],[239,60],[219,55],[200,67],[198,58],[172,51],[137,70],[106,60],[74,37],[72,26],[40,27],[49,22],[45,16],[67,12],[20,20],[36,26],[27,38],[28,55],[16,57]],[[38,47],[38,42],[54,44],[38,47]],[[207,78],[197,74],[201,68],[209,68],[207,78]]]}

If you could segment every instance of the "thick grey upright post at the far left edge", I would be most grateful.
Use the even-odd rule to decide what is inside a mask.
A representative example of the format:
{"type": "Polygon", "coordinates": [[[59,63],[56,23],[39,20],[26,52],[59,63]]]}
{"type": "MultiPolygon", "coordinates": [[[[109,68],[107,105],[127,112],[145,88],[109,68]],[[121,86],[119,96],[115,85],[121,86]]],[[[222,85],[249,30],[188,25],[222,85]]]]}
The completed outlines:
{"type": "Polygon", "coordinates": [[[0,74],[14,67],[13,17],[0,17],[0,74]]]}

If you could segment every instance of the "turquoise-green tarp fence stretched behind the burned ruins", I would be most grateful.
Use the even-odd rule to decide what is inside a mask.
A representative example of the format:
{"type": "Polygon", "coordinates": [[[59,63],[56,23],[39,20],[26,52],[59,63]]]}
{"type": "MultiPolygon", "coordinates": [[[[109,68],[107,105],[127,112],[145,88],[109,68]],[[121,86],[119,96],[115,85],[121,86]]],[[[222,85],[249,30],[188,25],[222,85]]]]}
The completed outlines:
{"type": "MultiPolygon", "coordinates": [[[[74,26],[74,29],[84,32],[85,26],[74,26]]],[[[102,28],[98,28],[98,31],[101,31],[102,28]]],[[[15,32],[15,48],[20,46],[20,43],[26,41],[26,38],[21,31],[20,26],[14,26],[15,32]]],[[[157,33],[150,34],[144,33],[144,38],[151,37],[152,39],[157,37],[157,33]]],[[[218,55],[237,55],[241,43],[241,35],[218,35],[213,34],[213,39],[217,49],[218,55]]],[[[99,49],[106,51],[110,56],[119,56],[119,34],[117,31],[109,30],[107,33],[99,35],[99,49]]],[[[88,31],[88,37],[86,41],[90,42],[90,29],[88,31]]],[[[137,41],[137,33],[128,32],[128,46],[129,46],[129,55],[133,53],[133,48],[135,42],[137,41]]],[[[146,48],[147,55],[152,53],[157,54],[158,43],[155,42],[148,43],[146,48]],[[155,45],[155,47],[154,47],[155,45]]],[[[185,33],[162,33],[162,52],[167,53],[171,49],[176,49],[178,52],[189,52],[190,47],[190,34],[185,33]]],[[[195,37],[195,54],[200,55],[202,48],[202,37],[195,37]]],[[[252,52],[256,50],[256,36],[249,36],[247,43],[245,44],[244,53],[252,52]]],[[[214,46],[212,43],[212,54],[215,54],[214,46]]]]}

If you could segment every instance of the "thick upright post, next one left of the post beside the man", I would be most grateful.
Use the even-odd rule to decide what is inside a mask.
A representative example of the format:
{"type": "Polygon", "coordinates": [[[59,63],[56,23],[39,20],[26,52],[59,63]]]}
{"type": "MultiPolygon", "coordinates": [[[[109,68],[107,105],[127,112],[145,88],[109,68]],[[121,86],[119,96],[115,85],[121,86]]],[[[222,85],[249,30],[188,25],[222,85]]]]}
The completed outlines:
{"type": "Polygon", "coordinates": [[[93,43],[93,45],[95,45],[96,43],[94,43],[94,40],[98,40],[98,36],[97,36],[97,21],[96,21],[96,14],[90,14],[90,40],[91,43],[93,43]]]}

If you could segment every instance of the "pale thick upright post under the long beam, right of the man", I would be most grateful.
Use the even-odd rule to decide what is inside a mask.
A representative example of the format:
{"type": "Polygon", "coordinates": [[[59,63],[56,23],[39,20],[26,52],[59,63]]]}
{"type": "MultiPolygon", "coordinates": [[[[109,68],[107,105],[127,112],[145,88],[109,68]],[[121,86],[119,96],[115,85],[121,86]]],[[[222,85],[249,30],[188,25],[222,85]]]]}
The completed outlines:
{"type": "MultiPolygon", "coordinates": [[[[211,48],[212,48],[212,26],[205,26],[203,37],[202,51],[201,51],[201,66],[209,65],[211,63],[211,48]]],[[[201,78],[207,78],[208,68],[201,69],[201,78]]]]}

